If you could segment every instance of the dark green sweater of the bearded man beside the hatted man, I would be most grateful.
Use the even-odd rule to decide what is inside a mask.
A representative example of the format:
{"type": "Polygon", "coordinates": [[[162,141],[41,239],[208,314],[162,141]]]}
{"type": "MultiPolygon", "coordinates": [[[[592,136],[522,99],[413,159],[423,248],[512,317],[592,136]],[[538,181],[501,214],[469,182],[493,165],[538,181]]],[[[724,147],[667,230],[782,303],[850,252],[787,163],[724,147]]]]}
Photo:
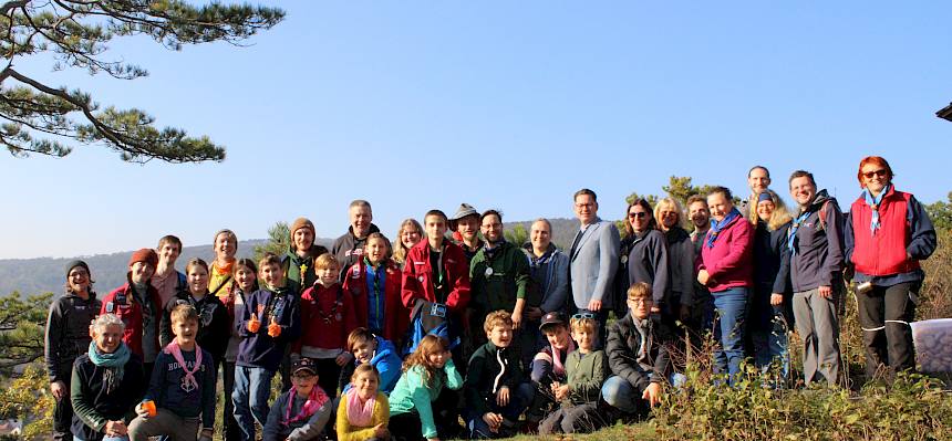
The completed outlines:
{"type": "Polygon", "coordinates": [[[469,262],[470,305],[480,315],[498,309],[511,312],[516,300],[526,297],[531,280],[529,260],[518,246],[503,242],[490,254],[493,258],[487,259],[483,248],[469,262]]]}

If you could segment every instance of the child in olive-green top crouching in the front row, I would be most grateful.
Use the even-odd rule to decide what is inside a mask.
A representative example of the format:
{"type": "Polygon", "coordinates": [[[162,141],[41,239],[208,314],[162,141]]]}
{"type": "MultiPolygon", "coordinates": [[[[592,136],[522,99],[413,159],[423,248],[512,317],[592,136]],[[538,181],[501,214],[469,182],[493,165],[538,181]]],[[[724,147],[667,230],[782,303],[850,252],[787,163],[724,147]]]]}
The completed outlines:
{"type": "Polygon", "coordinates": [[[552,395],[561,401],[561,408],[539,424],[539,434],[586,433],[606,424],[599,414],[598,401],[608,361],[604,351],[593,350],[598,324],[594,317],[587,315],[577,314],[571,319],[572,338],[578,349],[569,353],[566,359],[567,382],[552,382],[552,395]]]}

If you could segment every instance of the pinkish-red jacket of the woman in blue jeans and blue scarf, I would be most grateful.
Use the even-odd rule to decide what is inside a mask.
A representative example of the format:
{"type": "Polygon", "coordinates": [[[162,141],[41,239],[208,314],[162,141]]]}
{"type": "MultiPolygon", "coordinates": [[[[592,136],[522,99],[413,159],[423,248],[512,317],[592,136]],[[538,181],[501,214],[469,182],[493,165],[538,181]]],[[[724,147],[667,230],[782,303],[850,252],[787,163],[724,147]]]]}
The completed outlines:
{"type": "Polygon", "coordinates": [[[707,246],[707,231],[701,244],[701,259],[697,270],[707,270],[711,280],[707,288],[712,293],[732,287],[754,285],[754,225],[743,216],[737,217],[721,230],[714,240],[714,248],[707,246]]]}

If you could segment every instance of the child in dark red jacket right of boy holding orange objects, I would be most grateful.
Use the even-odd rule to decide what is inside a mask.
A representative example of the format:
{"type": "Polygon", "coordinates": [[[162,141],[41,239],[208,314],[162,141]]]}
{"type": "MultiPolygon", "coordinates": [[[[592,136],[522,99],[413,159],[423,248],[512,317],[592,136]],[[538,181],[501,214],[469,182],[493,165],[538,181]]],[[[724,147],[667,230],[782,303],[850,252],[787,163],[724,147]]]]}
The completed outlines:
{"type": "Polygon", "coordinates": [[[348,335],[358,327],[353,300],[338,282],[341,273],[338,259],[321,254],[314,261],[318,280],[301,295],[301,339],[294,344],[291,357],[307,357],[318,368],[318,384],[328,395],[337,391],[341,366],[353,356],[348,353],[348,335]]]}

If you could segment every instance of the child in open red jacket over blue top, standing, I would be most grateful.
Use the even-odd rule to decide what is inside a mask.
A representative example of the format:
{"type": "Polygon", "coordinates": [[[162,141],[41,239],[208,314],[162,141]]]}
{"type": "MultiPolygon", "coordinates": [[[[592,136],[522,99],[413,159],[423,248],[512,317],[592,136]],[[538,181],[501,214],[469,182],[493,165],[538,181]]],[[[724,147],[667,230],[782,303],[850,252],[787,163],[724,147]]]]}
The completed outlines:
{"type": "Polygon", "coordinates": [[[358,325],[401,347],[410,327],[410,309],[400,298],[402,274],[390,258],[390,243],[381,233],[371,233],[363,258],[348,269],[344,291],[353,296],[358,325]]]}

